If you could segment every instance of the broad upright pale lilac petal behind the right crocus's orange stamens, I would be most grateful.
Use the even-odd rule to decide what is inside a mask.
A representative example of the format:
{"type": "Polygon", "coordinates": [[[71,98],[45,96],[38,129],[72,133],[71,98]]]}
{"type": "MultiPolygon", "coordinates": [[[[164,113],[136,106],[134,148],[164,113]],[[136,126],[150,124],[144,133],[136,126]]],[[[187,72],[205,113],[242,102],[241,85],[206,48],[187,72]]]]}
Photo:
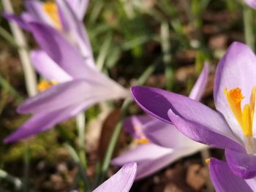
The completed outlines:
{"type": "Polygon", "coordinates": [[[240,138],[244,137],[233,112],[225,97],[224,90],[241,88],[248,104],[252,88],[256,85],[256,57],[252,50],[240,42],[233,42],[223,58],[219,61],[214,82],[214,101],[217,110],[222,112],[233,132],[240,138]]]}

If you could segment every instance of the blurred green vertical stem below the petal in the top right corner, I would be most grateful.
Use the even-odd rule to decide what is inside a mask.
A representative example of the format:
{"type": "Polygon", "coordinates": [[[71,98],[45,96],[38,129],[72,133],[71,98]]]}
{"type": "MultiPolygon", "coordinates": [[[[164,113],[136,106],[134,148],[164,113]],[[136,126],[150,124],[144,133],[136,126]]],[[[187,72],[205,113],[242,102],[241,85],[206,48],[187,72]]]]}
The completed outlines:
{"type": "Polygon", "coordinates": [[[253,18],[253,11],[247,5],[244,5],[243,10],[244,16],[244,39],[246,45],[252,48],[255,51],[255,36],[253,30],[254,18],[253,18]]]}

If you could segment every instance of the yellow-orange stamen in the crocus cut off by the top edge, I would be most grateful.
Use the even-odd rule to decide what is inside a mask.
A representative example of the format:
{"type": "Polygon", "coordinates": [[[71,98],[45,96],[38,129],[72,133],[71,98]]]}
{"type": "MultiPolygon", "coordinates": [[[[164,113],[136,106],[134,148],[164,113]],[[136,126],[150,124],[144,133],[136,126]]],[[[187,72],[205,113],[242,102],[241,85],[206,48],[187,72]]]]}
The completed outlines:
{"type": "Polygon", "coordinates": [[[48,16],[53,20],[56,25],[56,28],[61,28],[61,20],[59,18],[59,11],[57,5],[52,2],[46,2],[43,6],[44,11],[48,14],[48,16]]]}

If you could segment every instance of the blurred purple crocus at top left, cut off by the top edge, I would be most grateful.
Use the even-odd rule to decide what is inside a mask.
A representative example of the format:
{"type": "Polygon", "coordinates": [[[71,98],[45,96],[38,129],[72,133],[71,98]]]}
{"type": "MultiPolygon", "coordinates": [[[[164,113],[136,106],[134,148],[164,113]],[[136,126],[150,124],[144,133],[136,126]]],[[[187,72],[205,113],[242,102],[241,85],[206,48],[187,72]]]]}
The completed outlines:
{"type": "Polygon", "coordinates": [[[89,0],[56,0],[56,3],[26,0],[26,12],[20,16],[5,12],[4,16],[31,32],[33,32],[29,25],[31,22],[56,28],[70,44],[77,47],[86,59],[86,64],[95,67],[91,44],[83,24],[83,16],[88,4],[89,0]]]}

